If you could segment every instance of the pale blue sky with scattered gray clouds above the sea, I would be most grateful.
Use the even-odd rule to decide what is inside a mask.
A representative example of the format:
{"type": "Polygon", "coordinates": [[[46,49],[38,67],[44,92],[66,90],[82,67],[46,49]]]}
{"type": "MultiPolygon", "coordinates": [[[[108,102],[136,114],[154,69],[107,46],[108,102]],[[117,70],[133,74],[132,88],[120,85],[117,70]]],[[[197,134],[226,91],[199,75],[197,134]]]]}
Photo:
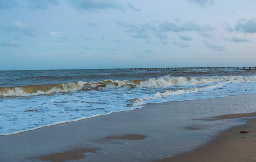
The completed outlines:
{"type": "Polygon", "coordinates": [[[0,0],[0,70],[256,66],[256,0],[0,0]]]}

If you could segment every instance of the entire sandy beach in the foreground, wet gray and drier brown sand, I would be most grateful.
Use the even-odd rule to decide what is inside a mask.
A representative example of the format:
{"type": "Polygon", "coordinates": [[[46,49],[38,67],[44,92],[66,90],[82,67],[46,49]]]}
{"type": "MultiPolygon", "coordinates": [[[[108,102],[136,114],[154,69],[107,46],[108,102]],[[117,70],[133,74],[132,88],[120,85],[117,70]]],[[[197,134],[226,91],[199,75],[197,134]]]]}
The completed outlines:
{"type": "Polygon", "coordinates": [[[256,95],[147,104],[0,136],[1,162],[253,162],[256,95]],[[240,133],[246,131],[248,133],[240,133]]]}

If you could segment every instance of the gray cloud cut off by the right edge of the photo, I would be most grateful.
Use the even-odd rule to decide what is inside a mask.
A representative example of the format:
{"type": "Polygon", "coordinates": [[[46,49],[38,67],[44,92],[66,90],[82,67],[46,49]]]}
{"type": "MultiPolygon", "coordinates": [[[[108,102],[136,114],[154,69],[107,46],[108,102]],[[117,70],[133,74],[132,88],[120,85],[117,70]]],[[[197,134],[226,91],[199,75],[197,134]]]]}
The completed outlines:
{"type": "Polygon", "coordinates": [[[247,20],[240,19],[237,21],[235,27],[235,31],[240,31],[243,33],[256,33],[256,18],[247,20]]]}

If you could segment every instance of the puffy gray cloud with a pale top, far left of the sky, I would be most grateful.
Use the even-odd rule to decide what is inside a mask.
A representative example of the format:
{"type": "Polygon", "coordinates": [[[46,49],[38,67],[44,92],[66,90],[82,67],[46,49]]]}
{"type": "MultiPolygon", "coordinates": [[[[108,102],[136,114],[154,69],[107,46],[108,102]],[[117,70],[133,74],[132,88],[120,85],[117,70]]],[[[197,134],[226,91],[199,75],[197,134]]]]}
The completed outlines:
{"type": "Polygon", "coordinates": [[[16,20],[10,27],[5,27],[5,31],[21,32],[26,36],[35,36],[36,30],[22,23],[20,20],[16,20]]]}

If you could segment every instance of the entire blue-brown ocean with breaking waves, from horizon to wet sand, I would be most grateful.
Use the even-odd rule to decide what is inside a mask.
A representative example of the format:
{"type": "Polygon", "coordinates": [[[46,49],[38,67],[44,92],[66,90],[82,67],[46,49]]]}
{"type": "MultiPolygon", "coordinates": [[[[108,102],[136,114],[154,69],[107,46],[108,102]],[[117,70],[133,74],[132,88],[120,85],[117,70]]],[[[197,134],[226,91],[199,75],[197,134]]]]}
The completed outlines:
{"type": "MultiPolygon", "coordinates": [[[[0,135],[132,110],[146,103],[241,94],[256,94],[255,70],[0,71],[0,135]]],[[[250,112],[255,109],[213,113],[250,112]]]]}

